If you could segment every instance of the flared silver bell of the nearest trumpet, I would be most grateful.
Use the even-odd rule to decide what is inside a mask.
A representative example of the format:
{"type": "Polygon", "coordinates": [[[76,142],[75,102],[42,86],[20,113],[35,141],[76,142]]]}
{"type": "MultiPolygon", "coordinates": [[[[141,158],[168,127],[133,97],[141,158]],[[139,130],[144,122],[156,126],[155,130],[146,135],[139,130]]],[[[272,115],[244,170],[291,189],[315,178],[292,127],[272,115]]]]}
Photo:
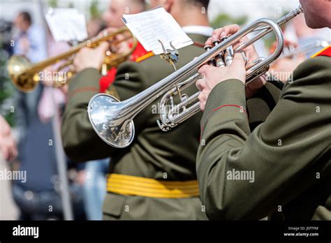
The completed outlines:
{"type": "Polygon", "coordinates": [[[96,94],[89,101],[89,121],[98,136],[108,145],[124,148],[131,144],[135,135],[132,120],[120,117],[122,102],[109,94],[96,94]]]}

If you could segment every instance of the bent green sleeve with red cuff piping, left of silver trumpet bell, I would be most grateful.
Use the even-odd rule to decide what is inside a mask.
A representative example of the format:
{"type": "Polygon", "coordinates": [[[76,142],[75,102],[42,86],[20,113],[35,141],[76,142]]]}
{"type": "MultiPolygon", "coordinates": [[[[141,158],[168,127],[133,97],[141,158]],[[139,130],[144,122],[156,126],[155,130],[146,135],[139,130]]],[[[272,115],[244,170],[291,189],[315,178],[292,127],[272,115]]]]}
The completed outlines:
{"type": "Polygon", "coordinates": [[[98,70],[87,68],[69,84],[61,133],[64,151],[73,161],[102,159],[110,153],[110,147],[94,132],[87,114],[89,100],[98,94],[99,79],[98,70]]]}

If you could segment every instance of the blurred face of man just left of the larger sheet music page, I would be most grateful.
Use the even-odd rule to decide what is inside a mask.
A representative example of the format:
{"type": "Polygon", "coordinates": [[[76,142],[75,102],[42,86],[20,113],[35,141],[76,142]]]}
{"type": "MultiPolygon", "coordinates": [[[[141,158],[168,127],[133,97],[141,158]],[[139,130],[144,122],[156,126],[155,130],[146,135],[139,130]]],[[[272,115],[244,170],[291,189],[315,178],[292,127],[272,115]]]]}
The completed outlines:
{"type": "Polygon", "coordinates": [[[103,13],[103,21],[107,27],[120,28],[124,26],[122,15],[131,13],[130,1],[128,0],[112,0],[105,13],[103,13]]]}

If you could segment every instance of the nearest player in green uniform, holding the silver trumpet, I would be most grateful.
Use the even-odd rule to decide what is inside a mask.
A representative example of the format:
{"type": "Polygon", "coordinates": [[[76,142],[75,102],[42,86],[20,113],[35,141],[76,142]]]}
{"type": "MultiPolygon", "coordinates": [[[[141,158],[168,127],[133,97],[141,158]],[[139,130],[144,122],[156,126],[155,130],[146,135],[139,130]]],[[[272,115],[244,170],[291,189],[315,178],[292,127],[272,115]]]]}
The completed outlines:
{"type": "MultiPolygon", "coordinates": [[[[330,1],[300,3],[309,27],[331,27],[330,1]]],[[[200,68],[204,145],[196,168],[209,219],[331,219],[330,66],[330,46],[300,64],[254,131],[242,54],[229,67],[200,68]]]]}

